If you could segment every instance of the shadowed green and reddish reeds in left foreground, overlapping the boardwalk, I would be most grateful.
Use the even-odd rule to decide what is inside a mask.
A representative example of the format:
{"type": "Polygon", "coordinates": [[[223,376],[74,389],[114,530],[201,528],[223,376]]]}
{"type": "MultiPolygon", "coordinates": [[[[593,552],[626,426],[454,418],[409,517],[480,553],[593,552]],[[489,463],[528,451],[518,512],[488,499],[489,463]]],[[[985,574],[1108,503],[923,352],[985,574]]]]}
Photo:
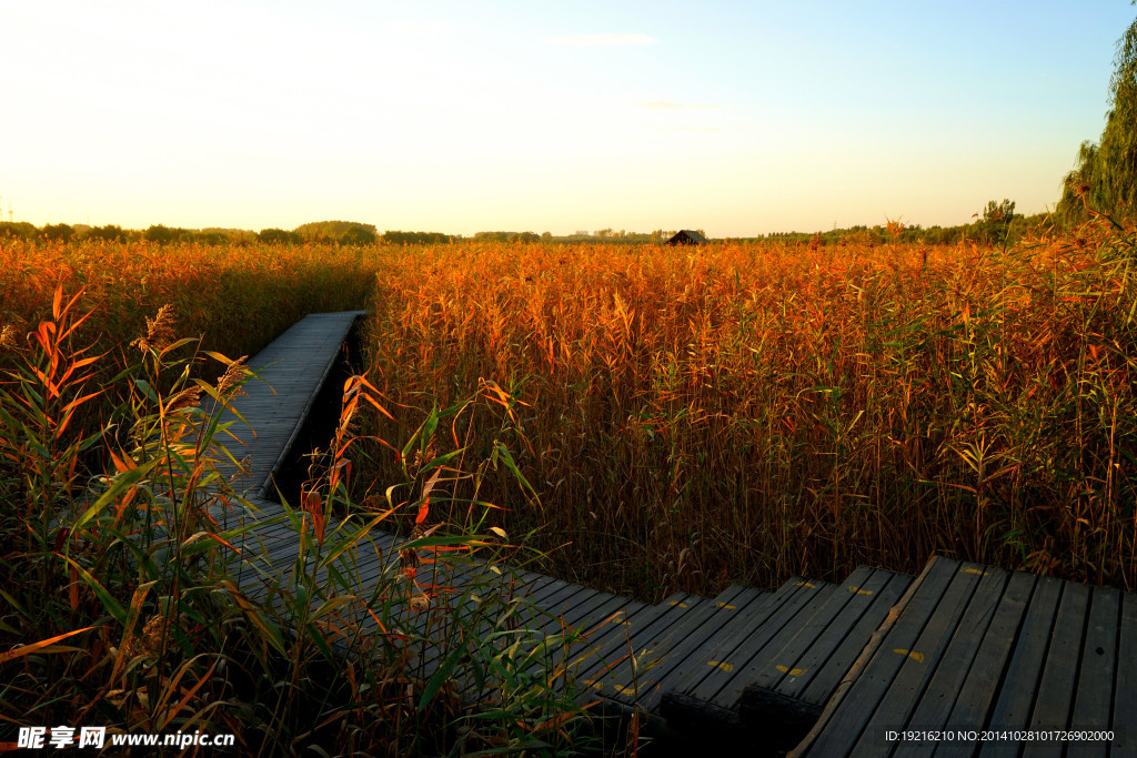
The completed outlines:
{"type": "Polygon", "coordinates": [[[240,472],[227,473],[239,430],[219,420],[258,380],[240,360],[176,339],[164,309],[124,350],[130,363],[114,383],[126,400],[88,433],[72,419],[99,397],[91,384],[105,357],[77,340],[90,318],[82,301],[56,290],[50,317],[10,345],[0,385],[0,740],[15,742],[22,725],[63,724],[233,733],[235,755],[579,745],[587,719],[572,688],[542,685],[562,676],[556,657],[529,653],[540,665],[523,681],[511,664],[561,636],[504,645],[474,633],[525,601],[493,573],[454,581],[463,561],[499,561],[507,545],[500,528],[426,526],[443,475],[460,476],[449,459],[422,466],[429,484],[407,483],[392,507],[350,502],[352,416],[379,406],[364,378],[345,388],[330,464],[313,470],[301,502],[258,519],[236,494],[240,472]],[[196,378],[204,358],[221,364],[216,382],[196,378]],[[107,464],[93,477],[81,460],[89,451],[107,464]],[[418,526],[404,560],[362,582],[358,557],[401,511],[418,526]],[[256,534],[273,528],[297,545],[282,574],[258,563],[256,534]],[[455,684],[474,675],[498,691],[480,708],[455,684]]]}

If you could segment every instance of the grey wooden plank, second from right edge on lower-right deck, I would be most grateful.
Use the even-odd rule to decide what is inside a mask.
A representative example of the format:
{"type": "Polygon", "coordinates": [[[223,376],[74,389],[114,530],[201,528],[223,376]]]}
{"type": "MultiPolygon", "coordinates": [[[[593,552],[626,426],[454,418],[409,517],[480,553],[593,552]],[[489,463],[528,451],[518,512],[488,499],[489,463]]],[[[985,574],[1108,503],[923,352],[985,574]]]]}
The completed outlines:
{"type": "MultiPolygon", "coordinates": [[[[1120,614],[1120,592],[1102,586],[1093,589],[1073,717],[1070,719],[1071,730],[1104,732],[1110,728],[1120,614]]],[[[1128,655],[1131,657],[1137,651],[1128,651],[1128,655]]],[[[1084,740],[1071,742],[1067,755],[1078,758],[1104,757],[1107,751],[1109,743],[1105,741],[1084,740]]]]}

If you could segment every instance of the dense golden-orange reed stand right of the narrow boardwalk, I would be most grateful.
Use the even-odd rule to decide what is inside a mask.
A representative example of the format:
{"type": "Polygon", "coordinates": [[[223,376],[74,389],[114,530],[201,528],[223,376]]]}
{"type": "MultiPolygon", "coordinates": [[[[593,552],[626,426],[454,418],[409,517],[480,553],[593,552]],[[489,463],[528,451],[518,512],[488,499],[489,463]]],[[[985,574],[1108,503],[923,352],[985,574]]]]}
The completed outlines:
{"type": "Polygon", "coordinates": [[[408,250],[375,293],[395,420],[371,428],[492,382],[515,423],[458,424],[492,461],[462,492],[549,570],[642,598],[933,551],[1131,590],[1135,248],[1098,220],[997,248],[408,250]]]}

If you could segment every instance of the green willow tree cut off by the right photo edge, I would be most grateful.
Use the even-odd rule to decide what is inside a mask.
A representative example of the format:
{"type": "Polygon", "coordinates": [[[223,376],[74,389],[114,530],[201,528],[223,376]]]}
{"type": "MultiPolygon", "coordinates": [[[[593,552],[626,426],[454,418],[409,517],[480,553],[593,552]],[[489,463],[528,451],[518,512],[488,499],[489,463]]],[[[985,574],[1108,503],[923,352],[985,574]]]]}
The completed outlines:
{"type": "Polygon", "coordinates": [[[1085,206],[1137,217],[1137,20],[1118,40],[1110,98],[1101,142],[1082,142],[1077,167],[1063,181],[1057,210],[1065,218],[1082,217],[1085,206]]]}

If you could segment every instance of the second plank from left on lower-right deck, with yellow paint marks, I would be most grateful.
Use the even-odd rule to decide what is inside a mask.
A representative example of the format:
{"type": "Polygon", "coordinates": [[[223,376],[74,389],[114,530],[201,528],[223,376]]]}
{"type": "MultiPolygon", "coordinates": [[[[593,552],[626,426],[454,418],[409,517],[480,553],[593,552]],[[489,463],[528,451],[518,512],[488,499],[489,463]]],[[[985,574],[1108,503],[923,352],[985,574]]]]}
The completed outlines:
{"type": "Polygon", "coordinates": [[[886,650],[899,658],[901,668],[893,677],[893,682],[885,692],[875,713],[865,724],[857,749],[871,750],[890,747],[883,740],[885,732],[910,723],[912,711],[947,652],[948,643],[979,588],[981,578],[988,576],[999,577],[999,581],[994,583],[994,588],[1002,591],[1007,572],[990,566],[984,567],[979,564],[960,564],[952,583],[944,592],[915,643],[908,648],[889,648],[886,644],[886,650]]]}

